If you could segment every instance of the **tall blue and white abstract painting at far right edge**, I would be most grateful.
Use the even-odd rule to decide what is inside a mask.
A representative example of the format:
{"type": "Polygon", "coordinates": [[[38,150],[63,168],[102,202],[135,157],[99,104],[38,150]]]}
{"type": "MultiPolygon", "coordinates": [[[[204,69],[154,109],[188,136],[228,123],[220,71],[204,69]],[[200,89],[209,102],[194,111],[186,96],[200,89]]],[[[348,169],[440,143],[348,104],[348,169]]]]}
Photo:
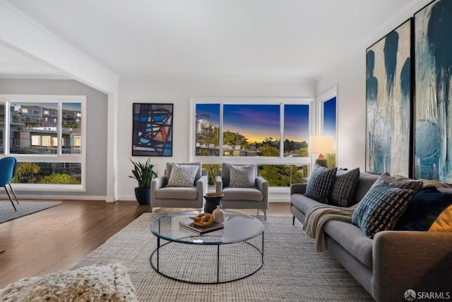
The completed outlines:
{"type": "Polygon", "coordinates": [[[452,1],[415,13],[415,178],[452,181],[452,1]]]}

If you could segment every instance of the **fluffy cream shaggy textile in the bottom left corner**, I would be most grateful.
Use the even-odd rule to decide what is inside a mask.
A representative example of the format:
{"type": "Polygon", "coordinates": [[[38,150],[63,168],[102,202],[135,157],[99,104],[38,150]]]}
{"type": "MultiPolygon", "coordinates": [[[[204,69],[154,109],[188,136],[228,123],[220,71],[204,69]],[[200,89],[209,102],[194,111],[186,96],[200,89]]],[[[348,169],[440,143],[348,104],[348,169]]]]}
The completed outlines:
{"type": "Polygon", "coordinates": [[[126,267],[86,266],[20,279],[0,289],[0,301],[136,301],[126,267]]]}

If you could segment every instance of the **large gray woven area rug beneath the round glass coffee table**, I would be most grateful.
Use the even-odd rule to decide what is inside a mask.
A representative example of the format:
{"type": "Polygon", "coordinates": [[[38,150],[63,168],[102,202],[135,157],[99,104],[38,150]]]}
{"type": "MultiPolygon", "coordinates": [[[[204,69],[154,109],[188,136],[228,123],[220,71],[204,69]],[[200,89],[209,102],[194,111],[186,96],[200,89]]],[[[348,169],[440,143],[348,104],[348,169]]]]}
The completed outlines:
{"type": "MultiPolygon", "coordinates": [[[[314,241],[304,234],[302,224],[292,226],[292,217],[270,216],[263,222],[265,258],[263,267],[255,274],[222,284],[189,284],[169,279],[155,272],[149,262],[157,244],[149,226],[158,216],[141,215],[72,270],[119,262],[128,269],[138,301],[374,301],[328,252],[316,252],[314,241]]],[[[179,274],[187,270],[211,274],[214,265],[210,258],[215,252],[209,249],[187,252],[186,246],[176,243],[171,252],[174,257],[162,262],[179,270],[179,274]],[[187,260],[188,268],[184,265],[187,260]]],[[[249,254],[250,262],[256,260],[256,255],[242,250],[242,246],[230,248],[236,250],[229,250],[231,255],[224,259],[232,271],[239,270],[233,255],[237,248],[240,253],[249,254]]]]}

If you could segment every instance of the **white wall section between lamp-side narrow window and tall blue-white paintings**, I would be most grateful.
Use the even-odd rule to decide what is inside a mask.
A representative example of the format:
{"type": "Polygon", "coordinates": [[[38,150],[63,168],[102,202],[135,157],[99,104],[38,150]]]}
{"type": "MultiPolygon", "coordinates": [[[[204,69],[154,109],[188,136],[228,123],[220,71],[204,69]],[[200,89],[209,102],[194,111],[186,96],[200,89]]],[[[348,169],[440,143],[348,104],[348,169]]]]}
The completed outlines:
{"type": "Polygon", "coordinates": [[[316,95],[338,86],[338,167],[359,167],[361,171],[365,171],[366,49],[398,28],[429,2],[430,0],[412,1],[405,11],[396,12],[380,28],[369,34],[367,44],[363,44],[345,61],[318,79],[316,95]]]}

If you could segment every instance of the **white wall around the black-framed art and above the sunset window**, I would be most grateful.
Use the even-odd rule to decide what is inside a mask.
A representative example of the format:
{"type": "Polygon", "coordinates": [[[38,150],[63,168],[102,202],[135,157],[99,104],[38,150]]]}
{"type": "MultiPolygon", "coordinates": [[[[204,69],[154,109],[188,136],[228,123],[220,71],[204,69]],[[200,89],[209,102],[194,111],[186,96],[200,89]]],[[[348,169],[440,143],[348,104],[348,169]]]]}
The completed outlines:
{"type": "MultiPolygon", "coordinates": [[[[315,97],[315,80],[279,79],[121,79],[119,81],[118,199],[135,200],[131,175],[132,104],[174,104],[173,156],[151,157],[163,174],[165,163],[189,160],[190,97],[315,97]]],[[[145,161],[147,157],[134,157],[145,161]]]]}

